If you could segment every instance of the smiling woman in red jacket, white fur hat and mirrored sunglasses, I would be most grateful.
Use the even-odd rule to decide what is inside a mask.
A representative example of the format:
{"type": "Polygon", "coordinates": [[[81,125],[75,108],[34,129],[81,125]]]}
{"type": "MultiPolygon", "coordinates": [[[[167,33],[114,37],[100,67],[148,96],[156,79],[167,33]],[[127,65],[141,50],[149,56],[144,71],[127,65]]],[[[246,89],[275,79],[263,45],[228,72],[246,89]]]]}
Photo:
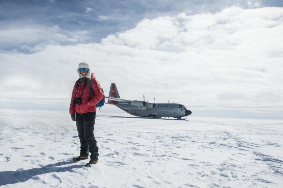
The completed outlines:
{"type": "Polygon", "coordinates": [[[78,68],[79,79],[76,81],[70,104],[70,114],[73,121],[76,121],[80,138],[80,156],[74,157],[74,161],[88,158],[91,153],[90,164],[98,162],[98,147],[94,137],[94,124],[96,117],[96,104],[103,98],[103,91],[94,74],[91,72],[88,63],[81,62],[78,68]],[[93,78],[93,79],[91,79],[93,78]],[[90,82],[92,83],[90,84],[90,82]],[[90,91],[93,88],[94,95],[90,91]]]}

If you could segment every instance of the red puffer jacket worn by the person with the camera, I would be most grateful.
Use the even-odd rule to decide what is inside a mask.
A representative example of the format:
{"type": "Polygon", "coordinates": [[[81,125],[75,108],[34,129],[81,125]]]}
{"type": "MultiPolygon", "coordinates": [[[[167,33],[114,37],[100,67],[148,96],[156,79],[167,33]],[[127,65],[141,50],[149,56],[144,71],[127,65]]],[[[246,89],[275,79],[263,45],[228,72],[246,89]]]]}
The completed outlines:
{"type": "Polygon", "coordinates": [[[103,98],[103,92],[99,82],[95,79],[93,73],[91,74],[91,78],[93,78],[91,86],[93,88],[94,95],[91,94],[90,99],[88,99],[90,94],[89,85],[86,85],[84,87],[84,83],[80,83],[78,89],[76,89],[78,83],[78,81],[76,81],[71,101],[73,101],[75,98],[81,98],[82,103],[70,104],[70,114],[73,114],[75,112],[79,114],[83,114],[86,112],[96,112],[96,104],[103,98]]]}

